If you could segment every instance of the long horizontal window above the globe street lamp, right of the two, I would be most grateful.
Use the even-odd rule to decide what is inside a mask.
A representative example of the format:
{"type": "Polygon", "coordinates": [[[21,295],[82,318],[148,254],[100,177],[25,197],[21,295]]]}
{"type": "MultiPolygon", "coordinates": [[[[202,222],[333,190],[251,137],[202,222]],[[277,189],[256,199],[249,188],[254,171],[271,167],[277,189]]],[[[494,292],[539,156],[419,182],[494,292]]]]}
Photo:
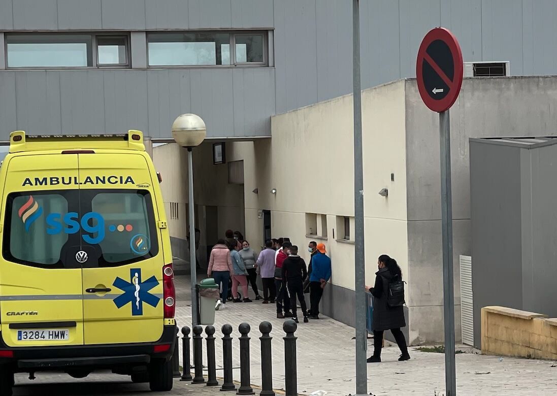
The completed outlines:
{"type": "Polygon", "coordinates": [[[266,66],[266,37],[249,31],[149,33],[149,66],[266,66]]]}

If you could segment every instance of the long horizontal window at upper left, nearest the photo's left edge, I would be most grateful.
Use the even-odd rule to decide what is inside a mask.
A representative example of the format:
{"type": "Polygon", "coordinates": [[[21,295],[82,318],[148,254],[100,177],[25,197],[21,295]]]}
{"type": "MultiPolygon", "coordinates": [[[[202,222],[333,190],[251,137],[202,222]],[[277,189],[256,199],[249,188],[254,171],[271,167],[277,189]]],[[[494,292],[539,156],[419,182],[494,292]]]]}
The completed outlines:
{"type": "Polygon", "coordinates": [[[85,33],[8,33],[8,67],[128,66],[128,37],[85,33]]]}

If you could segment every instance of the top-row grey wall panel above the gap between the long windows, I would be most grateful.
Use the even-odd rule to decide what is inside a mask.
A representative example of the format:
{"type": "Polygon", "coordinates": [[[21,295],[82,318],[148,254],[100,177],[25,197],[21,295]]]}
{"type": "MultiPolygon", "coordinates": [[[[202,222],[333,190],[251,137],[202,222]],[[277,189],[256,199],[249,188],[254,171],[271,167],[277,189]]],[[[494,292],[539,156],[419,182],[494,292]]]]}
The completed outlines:
{"type": "Polygon", "coordinates": [[[145,0],[102,0],[102,28],[145,30],[145,0]]]}

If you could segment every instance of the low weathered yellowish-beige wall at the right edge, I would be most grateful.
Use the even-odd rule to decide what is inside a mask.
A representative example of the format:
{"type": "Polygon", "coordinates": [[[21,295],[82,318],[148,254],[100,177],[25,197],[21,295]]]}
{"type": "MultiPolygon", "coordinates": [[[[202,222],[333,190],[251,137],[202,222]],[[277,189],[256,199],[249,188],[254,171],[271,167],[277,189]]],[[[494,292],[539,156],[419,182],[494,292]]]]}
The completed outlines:
{"type": "Polygon", "coordinates": [[[557,359],[557,319],[506,307],[482,308],[482,353],[557,359]]]}

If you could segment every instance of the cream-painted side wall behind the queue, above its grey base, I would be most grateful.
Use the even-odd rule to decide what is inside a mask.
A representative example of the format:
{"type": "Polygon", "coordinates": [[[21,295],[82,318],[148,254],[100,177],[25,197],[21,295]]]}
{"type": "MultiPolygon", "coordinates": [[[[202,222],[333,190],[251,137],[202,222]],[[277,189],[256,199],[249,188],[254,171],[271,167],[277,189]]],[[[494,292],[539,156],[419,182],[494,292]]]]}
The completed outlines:
{"type": "MultiPolygon", "coordinates": [[[[362,107],[366,280],[372,283],[382,253],[397,258],[408,273],[403,82],[364,91],[362,107]],[[388,198],[378,194],[382,188],[389,189],[388,198]]],[[[305,214],[326,214],[323,242],[333,261],[332,282],[354,289],[354,245],[336,241],[336,216],[354,216],[351,96],[274,116],[271,129],[271,142],[254,146],[253,188],[259,194],[246,199],[246,224],[261,227],[257,209],[270,209],[273,236],[289,236],[307,260],[306,244],[314,238],[306,237],[305,214]],[[276,195],[270,194],[272,188],[276,195]]],[[[246,185],[246,197],[251,189],[246,185]]]]}

